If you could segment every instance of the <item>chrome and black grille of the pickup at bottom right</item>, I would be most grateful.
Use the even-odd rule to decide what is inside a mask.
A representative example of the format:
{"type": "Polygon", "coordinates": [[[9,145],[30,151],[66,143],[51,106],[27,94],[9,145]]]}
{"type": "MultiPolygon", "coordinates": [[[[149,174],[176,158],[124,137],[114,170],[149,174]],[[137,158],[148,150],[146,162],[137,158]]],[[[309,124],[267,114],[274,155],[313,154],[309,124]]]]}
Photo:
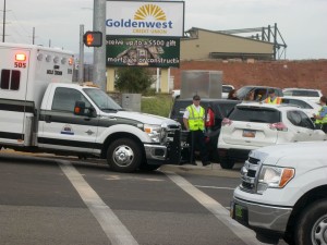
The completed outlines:
{"type": "Polygon", "coordinates": [[[242,184],[241,188],[244,192],[256,192],[256,177],[261,167],[261,160],[250,157],[241,169],[242,184]]]}

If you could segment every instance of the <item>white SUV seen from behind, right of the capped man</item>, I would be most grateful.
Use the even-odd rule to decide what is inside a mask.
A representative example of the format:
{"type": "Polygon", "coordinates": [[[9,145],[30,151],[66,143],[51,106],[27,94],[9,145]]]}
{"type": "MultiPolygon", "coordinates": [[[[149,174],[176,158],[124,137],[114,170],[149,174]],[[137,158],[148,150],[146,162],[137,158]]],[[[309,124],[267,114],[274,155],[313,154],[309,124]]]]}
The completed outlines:
{"type": "Polygon", "coordinates": [[[222,120],[217,148],[221,168],[231,169],[263,146],[326,139],[301,108],[243,102],[222,120]]]}

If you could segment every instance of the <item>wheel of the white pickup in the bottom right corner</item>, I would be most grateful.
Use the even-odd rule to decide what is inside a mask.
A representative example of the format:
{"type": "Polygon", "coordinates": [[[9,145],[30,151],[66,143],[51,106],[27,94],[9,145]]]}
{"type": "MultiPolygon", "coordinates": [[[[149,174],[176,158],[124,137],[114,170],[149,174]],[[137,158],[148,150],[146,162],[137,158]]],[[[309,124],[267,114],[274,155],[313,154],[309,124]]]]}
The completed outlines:
{"type": "Polygon", "coordinates": [[[295,226],[296,245],[327,244],[327,199],[311,204],[301,213],[295,226]]]}

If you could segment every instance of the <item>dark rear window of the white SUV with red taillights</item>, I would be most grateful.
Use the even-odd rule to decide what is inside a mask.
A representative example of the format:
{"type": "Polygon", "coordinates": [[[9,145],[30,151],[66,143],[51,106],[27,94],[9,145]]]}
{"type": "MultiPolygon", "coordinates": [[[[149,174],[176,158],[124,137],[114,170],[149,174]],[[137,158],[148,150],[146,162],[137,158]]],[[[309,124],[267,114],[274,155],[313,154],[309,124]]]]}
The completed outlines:
{"type": "Polygon", "coordinates": [[[280,112],[269,108],[235,107],[229,119],[242,122],[277,123],[280,122],[280,112]]]}

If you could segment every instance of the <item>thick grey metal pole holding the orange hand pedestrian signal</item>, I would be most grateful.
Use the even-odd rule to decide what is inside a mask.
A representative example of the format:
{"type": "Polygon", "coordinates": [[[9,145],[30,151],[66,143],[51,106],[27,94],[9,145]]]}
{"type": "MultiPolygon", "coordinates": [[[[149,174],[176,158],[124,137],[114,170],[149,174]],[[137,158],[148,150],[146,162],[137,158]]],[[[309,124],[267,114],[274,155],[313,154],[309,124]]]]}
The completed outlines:
{"type": "Polygon", "coordinates": [[[102,33],[102,46],[94,48],[93,82],[104,91],[107,90],[106,78],[106,0],[94,0],[93,30],[102,33]]]}

